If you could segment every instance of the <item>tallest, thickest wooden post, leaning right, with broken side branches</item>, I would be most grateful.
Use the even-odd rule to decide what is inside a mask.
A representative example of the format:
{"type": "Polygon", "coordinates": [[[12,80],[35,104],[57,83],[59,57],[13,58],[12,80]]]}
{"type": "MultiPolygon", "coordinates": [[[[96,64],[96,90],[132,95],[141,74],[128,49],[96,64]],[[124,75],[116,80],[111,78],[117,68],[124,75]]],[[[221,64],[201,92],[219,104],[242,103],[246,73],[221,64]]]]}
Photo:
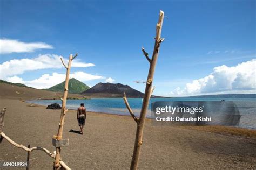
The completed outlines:
{"type": "MultiPolygon", "coordinates": [[[[154,69],[156,68],[160,44],[164,40],[161,38],[161,29],[163,26],[163,20],[164,20],[164,12],[160,11],[159,19],[158,19],[158,23],[157,23],[156,38],[155,38],[155,43],[154,43],[154,51],[153,51],[152,59],[149,58],[149,54],[147,52],[145,52],[144,48],[142,48],[143,54],[145,55],[146,59],[150,62],[150,68],[149,68],[149,74],[147,76],[147,81],[146,81],[146,88],[145,88],[145,94],[144,94],[144,98],[143,98],[142,110],[140,111],[140,117],[139,117],[138,122],[136,121],[137,131],[136,131],[136,138],[135,138],[135,143],[134,143],[134,150],[133,150],[132,162],[131,162],[130,169],[137,169],[137,167],[138,167],[140,148],[142,147],[142,142],[143,142],[143,140],[142,140],[143,139],[143,129],[144,129],[144,124],[145,124],[145,119],[146,119],[146,114],[147,114],[147,108],[149,107],[150,97],[151,97],[153,89],[154,89],[152,87],[154,69]]],[[[126,96],[124,96],[124,101],[126,103],[127,100],[125,100],[125,99],[126,99],[126,96]]],[[[127,107],[127,104],[126,104],[126,107],[127,107]]],[[[128,109],[129,109],[129,111],[131,110],[130,107],[128,109]]],[[[134,120],[136,120],[136,119],[134,118],[134,120]]]]}

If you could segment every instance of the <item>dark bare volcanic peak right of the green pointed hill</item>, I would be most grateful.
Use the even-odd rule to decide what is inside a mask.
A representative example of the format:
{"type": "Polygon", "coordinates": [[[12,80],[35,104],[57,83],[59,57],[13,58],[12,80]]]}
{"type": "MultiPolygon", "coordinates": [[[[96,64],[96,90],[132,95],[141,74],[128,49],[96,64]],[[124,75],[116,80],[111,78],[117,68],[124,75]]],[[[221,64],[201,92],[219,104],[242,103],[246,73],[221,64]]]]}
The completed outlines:
{"type": "Polygon", "coordinates": [[[124,92],[128,97],[143,97],[144,93],[121,83],[98,83],[92,88],[84,91],[83,95],[101,95],[102,97],[122,97],[124,92]]]}

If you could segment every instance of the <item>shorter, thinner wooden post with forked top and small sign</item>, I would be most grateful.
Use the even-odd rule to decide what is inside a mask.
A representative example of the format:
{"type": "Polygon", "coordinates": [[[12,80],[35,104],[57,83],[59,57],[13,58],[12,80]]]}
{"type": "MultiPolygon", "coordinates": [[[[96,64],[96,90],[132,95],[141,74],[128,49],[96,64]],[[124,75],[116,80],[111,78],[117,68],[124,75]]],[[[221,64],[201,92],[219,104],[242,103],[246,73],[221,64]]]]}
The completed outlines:
{"type": "MultiPolygon", "coordinates": [[[[57,135],[53,136],[57,140],[62,139],[65,115],[66,115],[66,112],[68,111],[68,109],[66,109],[66,98],[68,97],[68,90],[69,90],[68,87],[69,87],[69,74],[70,74],[71,62],[72,62],[73,59],[76,58],[77,55],[78,54],[76,54],[75,56],[72,56],[72,54],[70,54],[68,66],[66,66],[64,64],[64,61],[62,60],[62,58],[60,58],[62,60],[62,63],[64,65],[64,67],[66,68],[66,81],[65,81],[63,98],[61,98],[61,100],[62,100],[62,110],[61,110],[61,113],[60,113],[59,129],[58,129],[57,135]]],[[[59,167],[60,150],[61,150],[60,146],[56,147],[55,163],[54,163],[54,168],[55,169],[57,169],[59,167]]]]}

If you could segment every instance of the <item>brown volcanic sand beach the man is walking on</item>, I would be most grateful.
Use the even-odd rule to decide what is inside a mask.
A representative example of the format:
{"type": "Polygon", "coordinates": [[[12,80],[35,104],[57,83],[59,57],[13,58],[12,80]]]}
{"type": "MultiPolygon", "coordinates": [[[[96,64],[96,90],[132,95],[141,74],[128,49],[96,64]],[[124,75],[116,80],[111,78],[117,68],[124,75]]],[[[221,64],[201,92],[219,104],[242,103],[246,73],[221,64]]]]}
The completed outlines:
{"type": "MultiPolygon", "coordinates": [[[[45,147],[51,152],[60,110],[1,99],[7,107],[3,132],[18,144],[45,147]]],[[[76,111],[66,115],[62,160],[72,169],[129,169],[136,123],[131,117],[88,112],[84,135],[76,111]]],[[[3,139],[0,160],[26,161],[26,152],[3,139]]],[[[42,151],[30,155],[30,169],[52,169],[53,159],[42,151]]],[[[256,168],[256,131],[206,126],[154,126],[147,119],[139,169],[256,168]]],[[[19,168],[21,169],[21,168],[19,168]]]]}

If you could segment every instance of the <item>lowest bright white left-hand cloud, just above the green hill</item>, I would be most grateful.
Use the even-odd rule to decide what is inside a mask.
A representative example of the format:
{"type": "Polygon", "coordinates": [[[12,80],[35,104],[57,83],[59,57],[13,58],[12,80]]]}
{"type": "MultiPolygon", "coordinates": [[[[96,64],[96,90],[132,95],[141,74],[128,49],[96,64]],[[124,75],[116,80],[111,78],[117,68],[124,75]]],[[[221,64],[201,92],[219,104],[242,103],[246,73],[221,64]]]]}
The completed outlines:
{"type": "MultiPolygon", "coordinates": [[[[65,81],[65,74],[59,74],[59,73],[52,73],[50,74],[43,74],[38,79],[32,80],[32,81],[24,81],[21,77],[18,76],[12,76],[8,77],[7,81],[13,82],[13,83],[23,83],[26,86],[37,88],[37,89],[46,89],[50,88],[52,86],[55,86],[56,84],[59,84],[63,81],[65,81]]],[[[74,72],[70,74],[70,79],[75,78],[79,81],[85,82],[90,80],[98,80],[98,79],[105,79],[103,76],[99,75],[92,75],[85,72],[74,72]]]]}

